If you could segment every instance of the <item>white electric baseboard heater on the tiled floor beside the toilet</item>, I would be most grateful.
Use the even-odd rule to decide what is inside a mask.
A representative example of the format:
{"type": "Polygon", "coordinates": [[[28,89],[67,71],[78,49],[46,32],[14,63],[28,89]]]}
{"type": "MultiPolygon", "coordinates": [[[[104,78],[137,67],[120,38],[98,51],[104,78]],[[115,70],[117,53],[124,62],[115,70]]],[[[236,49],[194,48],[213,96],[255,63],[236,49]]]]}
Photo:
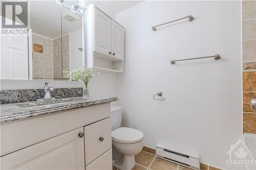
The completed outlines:
{"type": "Polygon", "coordinates": [[[200,169],[199,155],[157,144],[156,155],[161,159],[192,169],[200,169]]]}

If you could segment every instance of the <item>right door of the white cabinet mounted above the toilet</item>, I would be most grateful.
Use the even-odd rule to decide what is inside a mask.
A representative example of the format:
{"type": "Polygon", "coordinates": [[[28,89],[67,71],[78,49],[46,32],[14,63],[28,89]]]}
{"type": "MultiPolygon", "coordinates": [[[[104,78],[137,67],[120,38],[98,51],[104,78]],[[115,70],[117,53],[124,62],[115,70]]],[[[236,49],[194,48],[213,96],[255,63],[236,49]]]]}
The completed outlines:
{"type": "Polygon", "coordinates": [[[112,55],[123,59],[124,29],[114,20],[111,20],[111,43],[112,55]]]}

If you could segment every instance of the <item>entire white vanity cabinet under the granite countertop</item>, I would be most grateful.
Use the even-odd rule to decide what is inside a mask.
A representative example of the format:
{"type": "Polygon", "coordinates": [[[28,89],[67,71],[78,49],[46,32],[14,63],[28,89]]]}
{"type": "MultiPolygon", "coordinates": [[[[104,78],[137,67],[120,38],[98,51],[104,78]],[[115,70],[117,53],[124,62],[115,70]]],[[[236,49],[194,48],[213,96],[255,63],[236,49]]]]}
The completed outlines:
{"type": "Polygon", "coordinates": [[[0,126],[1,169],[112,169],[110,103],[0,126]]]}

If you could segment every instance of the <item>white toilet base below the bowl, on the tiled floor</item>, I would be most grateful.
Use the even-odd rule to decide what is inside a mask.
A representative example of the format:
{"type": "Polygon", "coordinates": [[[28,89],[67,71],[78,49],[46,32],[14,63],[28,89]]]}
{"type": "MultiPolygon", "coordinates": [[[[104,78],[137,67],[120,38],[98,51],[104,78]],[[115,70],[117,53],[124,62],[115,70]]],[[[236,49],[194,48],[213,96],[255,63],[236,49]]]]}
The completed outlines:
{"type": "Polygon", "coordinates": [[[122,155],[113,165],[121,170],[131,170],[135,166],[134,155],[122,155]]]}

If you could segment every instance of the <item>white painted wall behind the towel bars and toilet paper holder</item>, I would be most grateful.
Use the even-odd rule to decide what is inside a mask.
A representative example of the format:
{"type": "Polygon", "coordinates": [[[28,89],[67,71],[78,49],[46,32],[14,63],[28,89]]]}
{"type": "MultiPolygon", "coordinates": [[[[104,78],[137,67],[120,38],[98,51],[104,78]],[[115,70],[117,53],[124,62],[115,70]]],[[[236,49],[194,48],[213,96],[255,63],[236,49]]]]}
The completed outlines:
{"type": "Polygon", "coordinates": [[[170,145],[226,168],[242,134],[241,2],[146,1],[116,15],[126,29],[124,74],[117,77],[125,127],[145,145],[170,145]],[[187,15],[152,32],[152,26],[187,15]],[[220,54],[213,59],[177,62],[220,54]],[[152,96],[163,92],[165,101],[152,96]]]}

